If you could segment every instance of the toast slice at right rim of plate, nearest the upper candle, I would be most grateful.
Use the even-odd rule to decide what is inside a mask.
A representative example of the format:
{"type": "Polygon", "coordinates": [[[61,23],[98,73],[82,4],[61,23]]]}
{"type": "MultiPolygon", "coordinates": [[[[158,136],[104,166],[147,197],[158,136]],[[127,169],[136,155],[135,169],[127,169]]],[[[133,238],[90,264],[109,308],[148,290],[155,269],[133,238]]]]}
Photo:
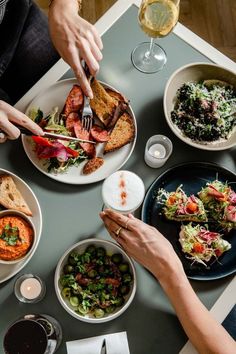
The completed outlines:
{"type": "Polygon", "coordinates": [[[134,121],[128,113],[123,113],[113,128],[110,139],[105,145],[104,154],[120,149],[134,140],[134,121]]]}

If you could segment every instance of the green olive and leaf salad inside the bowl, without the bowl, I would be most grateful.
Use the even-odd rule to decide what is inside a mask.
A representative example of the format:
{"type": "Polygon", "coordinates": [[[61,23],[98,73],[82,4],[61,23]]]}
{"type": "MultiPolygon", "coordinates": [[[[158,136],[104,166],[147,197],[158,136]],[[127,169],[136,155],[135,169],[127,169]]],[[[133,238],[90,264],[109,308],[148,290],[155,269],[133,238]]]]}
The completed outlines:
{"type": "Polygon", "coordinates": [[[75,312],[101,318],[125,302],[133,276],[120,253],[108,255],[103,247],[89,245],[72,252],[60,277],[62,297],[75,312]]]}

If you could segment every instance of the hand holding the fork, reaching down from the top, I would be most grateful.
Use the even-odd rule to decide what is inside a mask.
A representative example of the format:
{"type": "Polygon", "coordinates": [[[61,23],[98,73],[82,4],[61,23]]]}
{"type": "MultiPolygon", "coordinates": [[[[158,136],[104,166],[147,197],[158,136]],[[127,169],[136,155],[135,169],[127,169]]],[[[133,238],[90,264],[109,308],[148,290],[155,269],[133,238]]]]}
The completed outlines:
{"type": "Polygon", "coordinates": [[[78,15],[77,0],[53,1],[49,10],[49,29],[55,48],[73,69],[84,93],[92,98],[81,59],[85,60],[90,73],[95,76],[103,46],[95,27],[78,15]]]}

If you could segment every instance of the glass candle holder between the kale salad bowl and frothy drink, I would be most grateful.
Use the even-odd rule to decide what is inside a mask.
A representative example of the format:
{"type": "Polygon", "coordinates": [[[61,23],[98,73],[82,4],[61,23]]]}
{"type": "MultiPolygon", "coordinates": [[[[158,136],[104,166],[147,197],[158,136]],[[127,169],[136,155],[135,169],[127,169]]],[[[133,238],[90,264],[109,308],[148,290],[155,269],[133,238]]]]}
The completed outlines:
{"type": "Polygon", "coordinates": [[[172,154],[173,145],[164,135],[153,135],[145,147],[144,160],[149,167],[162,167],[172,154]]]}

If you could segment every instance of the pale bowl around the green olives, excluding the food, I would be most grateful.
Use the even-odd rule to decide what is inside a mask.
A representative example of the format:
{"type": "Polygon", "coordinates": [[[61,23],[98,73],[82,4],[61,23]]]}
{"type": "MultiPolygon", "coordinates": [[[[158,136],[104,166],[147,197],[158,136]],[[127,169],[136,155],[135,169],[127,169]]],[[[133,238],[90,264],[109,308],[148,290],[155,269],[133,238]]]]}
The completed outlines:
{"type": "Polygon", "coordinates": [[[136,292],[136,272],[131,258],[124,252],[124,250],[120,246],[118,246],[117,244],[111,241],[91,238],[76,243],[63,254],[56,267],[54,285],[55,285],[55,291],[59,302],[71,316],[77,318],[78,320],[88,322],[88,323],[103,323],[103,322],[111,321],[114,318],[120,316],[131,304],[136,292]],[[113,313],[105,314],[105,316],[102,318],[95,318],[92,315],[85,315],[85,316],[80,315],[79,313],[75,312],[75,309],[70,304],[70,302],[64,299],[63,296],[61,295],[62,286],[60,284],[59,279],[60,276],[63,274],[63,267],[67,263],[69,254],[72,251],[76,251],[82,254],[87,248],[87,246],[89,245],[94,245],[96,247],[104,247],[107,253],[110,255],[114,253],[121,253],[123,256],[123,260],[129,264],[129,271],[133,277],[132,286],[130,292],[127,295],[125,295],[124,304],[121,307],[118,307],[113,313]]]}

